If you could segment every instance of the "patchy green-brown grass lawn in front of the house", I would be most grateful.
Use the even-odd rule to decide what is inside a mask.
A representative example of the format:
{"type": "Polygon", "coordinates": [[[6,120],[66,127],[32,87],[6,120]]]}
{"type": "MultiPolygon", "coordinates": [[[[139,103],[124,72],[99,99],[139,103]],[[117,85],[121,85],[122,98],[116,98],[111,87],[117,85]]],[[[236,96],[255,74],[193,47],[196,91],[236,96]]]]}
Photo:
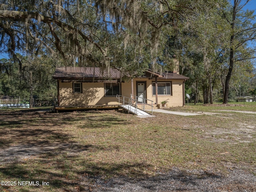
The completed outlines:
{"type": "Polygon", "coordinates": [[[16,182],[0,191],[90,191],[93,177],[145,178],[173,167],[256,174],[256,114],[237,112],[256,112],[256,103],[237,104],[189,104],[171,110],[201,115],[153,118],[0,110],[0,180],[16,182]]]}

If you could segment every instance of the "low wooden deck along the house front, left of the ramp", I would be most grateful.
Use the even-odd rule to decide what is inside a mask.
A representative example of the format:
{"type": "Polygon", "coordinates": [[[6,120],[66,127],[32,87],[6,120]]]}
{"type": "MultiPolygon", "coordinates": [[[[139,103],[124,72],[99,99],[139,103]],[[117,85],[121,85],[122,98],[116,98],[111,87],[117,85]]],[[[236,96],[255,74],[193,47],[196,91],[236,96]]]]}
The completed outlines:
{"type": "Polygon", "coordinates": [[[116,105],[84,105],[84,106],[55,106],[54,110],[93,110],[93,109],[118,109],[121,108],[118,104],[116,105]]]}

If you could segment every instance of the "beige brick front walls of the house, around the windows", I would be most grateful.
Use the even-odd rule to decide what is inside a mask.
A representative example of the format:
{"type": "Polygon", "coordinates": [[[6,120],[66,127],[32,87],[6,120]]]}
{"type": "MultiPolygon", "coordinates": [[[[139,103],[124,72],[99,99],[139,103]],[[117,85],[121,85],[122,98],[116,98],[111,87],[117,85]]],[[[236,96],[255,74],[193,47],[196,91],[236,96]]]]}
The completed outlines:
{"type": "MultiPolygon", "coordinates": [[[[154,79],[149,80],[148,78],[135,78],[133,80],[134,95],[136,95],[136,82],[146,82],[146,98],[153,100],[153,104],[156,102],[156,96],[152,94],[152,82],[154,79]]],[[[172,82],[172,95],[161,96],[158,95],[158,104],[168,99],[167,106],[182,106],[183,105],[183,93],[182,84],[183,80],[166,80],[158,82],[172,82]]],[[[130,97],[132,93],[131,82],[124,82],[121,84],[121,95],[130,97]]],[[[61,82],[59,81],[60,88],[60,106],[81,106],[81,105],[112,105],[118,104],[116,97],[105,97],[104,96],[104,83],[82,83],[82,93],[73,93],[72,82],[61,82]]],[[[151,104],[151,103],[149,103],[151,104]]]]}

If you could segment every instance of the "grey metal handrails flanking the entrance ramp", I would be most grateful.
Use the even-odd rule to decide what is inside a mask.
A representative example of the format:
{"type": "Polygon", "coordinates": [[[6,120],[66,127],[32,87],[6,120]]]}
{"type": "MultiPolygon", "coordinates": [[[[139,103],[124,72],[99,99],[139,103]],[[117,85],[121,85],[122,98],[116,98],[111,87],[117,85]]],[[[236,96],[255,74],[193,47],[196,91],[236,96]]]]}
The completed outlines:
{"type": "Polygon", "coordinates": [[[140,99],[142,99],[142,102],[141,102],[142,106],[143,106],[142,110],[145,111],[145,105],[151,106],[151,114],[153,114],[153,101],[152,100],[149,100],[149,99],[146,99],[146,98],[141,98],[141,97],[138,97],[138,96],[135,96],[135,95],[132,95],[132,94],[131,94],[130,98],[122,96],[122,95],[116,95],[116,98],[118,99],[118,105],[120,105],[121,102],[122,102],[123,105],[128,104],[128,112],[131,111],[131,106],[134,106],[136,114],[137,114],[137,109],[138,109],[138,98],[140,98],[140,99]],[[132,97],[135,97],[136,99],[133,99],[132,97]],[[151,102],[151,105],[148,104],[146,101],[151,102]],[[135,104],[133,104],[133,103],[135,103],[135,104]]]}

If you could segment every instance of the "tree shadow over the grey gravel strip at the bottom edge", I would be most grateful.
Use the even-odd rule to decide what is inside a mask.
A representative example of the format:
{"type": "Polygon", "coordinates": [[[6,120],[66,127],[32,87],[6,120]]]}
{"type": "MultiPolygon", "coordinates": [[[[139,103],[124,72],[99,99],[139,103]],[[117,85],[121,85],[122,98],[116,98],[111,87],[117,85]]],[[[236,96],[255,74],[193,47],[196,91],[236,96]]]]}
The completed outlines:
{"type": "MultiPolygon", "coordinates": [[[[144,167],[138,167],[144,168],[144,167]]],[[[213,191],[209,186],[210,182],[219,182],[223,177],[220,175],[207,175],[205,173],[191,174],[186,171],[174,168],[169,172],[149,176],[141,174],[142,177],[119,176],[108,179],[100,177],[93,178],[93,191],[213,191]],[[201,189],[200,189],[201,188],[201,189]]],[[[218,191],[218,190],[217,190],[218,191]]]]}

